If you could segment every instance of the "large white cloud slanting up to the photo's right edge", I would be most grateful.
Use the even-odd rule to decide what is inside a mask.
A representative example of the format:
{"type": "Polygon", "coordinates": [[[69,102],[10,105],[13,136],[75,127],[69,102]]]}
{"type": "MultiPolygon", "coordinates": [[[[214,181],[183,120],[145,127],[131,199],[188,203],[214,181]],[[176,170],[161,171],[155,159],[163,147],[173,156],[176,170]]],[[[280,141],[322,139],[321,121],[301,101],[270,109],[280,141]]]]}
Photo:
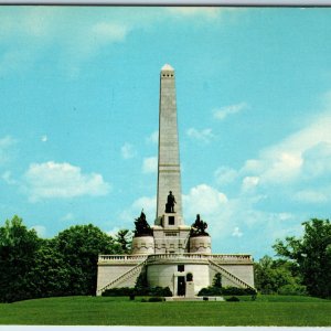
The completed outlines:
{"type": "Polygon", "coordinates": [[[258,159],[246,161],[241,173],[257,175],[265,185],[279,185],[330,172],[330,127],[331,110],[279,143],[265,148],[258,159]]]}

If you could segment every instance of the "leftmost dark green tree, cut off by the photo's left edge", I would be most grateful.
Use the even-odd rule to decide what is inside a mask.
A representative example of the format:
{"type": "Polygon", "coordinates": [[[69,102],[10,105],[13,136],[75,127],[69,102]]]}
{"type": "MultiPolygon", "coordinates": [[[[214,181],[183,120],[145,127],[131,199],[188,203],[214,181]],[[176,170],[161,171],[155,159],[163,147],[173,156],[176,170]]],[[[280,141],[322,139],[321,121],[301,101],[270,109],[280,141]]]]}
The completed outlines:
{"type": "Polygon", "coordinates": [[[32,269],[35,254],[42,245],[34,229],[28,229],[22,218],[13,216],[0,227],[0,301],[30,299],[34,293],[32,269]]]}

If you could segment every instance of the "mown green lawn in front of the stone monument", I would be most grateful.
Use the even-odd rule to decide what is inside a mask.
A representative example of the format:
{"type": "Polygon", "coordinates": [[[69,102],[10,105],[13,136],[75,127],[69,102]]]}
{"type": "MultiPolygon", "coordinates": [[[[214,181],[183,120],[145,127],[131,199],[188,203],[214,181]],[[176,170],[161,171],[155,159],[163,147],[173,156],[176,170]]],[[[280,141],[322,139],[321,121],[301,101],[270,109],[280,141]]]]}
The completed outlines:
{"type": "Polygon", "coordinates": [[[140,298],[66,297],[0,305],[0,324],[330,327],[331,301],[243,297],[241,302],[141,302],[140,298]]]}

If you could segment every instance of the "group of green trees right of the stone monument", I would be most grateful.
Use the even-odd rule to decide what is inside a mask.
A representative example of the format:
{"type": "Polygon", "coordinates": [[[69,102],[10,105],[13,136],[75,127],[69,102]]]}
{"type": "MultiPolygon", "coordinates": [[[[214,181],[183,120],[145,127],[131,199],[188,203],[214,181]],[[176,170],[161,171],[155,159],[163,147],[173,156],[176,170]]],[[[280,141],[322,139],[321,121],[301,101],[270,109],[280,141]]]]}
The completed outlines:
{"type": "Polygon", "coordinates": [[[302,226],[302,237],[276,241],[277,258],[265,256],[255,264],[259,292],[331,298],[330,221],[311,218],[302,226]]]}

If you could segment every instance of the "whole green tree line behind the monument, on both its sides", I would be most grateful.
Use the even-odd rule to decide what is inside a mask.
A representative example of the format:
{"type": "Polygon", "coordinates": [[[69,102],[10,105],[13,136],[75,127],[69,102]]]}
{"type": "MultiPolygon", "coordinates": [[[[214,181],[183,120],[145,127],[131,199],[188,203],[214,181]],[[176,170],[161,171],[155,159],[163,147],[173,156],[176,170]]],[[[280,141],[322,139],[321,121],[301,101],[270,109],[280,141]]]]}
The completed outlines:
{"type": "MultiPolygon", "coordinates": [[[[278,239],[277,258],[255,263],[260,293],[331,297],[331,224],[312,218],[303,236],[278,239]]],[[[40,238],[14,216],[0,227],[0,302],[57,297],[94,296],[99,254],[128,254],[128,229],[110,236],[98,227],[75,225],[51,239],[40,238]]]]}

